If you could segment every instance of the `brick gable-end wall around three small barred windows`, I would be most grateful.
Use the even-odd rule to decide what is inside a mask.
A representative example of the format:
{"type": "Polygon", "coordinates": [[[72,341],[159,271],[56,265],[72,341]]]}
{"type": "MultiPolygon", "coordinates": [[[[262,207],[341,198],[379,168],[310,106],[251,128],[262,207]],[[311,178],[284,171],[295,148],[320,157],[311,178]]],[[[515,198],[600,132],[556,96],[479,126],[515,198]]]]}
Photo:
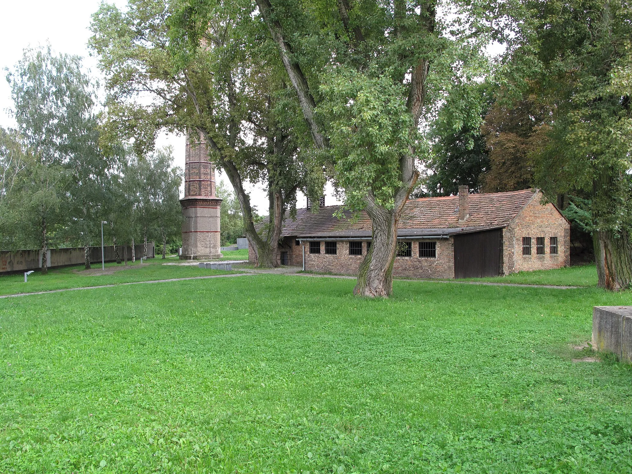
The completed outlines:
{"type": "Polygon", "coordinates": [[[530,270],[550,270],[571,264],[571,226],[554,205],[533,200],[504,229],[503,266],[505,274],[530,270]],[[531,255],[522,254],[522,238],[531,237],[531,255]],[[544,255],[537,255],[537,237],[544,237],[544,255]],[[557,237],[557,254],[550,253],[550,238],[557,237]]]}

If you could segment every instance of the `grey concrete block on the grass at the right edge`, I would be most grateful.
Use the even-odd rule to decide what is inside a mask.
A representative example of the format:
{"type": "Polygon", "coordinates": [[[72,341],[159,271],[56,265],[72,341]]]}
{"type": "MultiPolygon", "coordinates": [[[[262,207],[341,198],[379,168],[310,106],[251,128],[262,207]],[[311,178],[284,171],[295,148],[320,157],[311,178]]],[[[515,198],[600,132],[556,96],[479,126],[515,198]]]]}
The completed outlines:
{"type": "Polygon", "coordinates": [[[632,363],[632,306],[593,307],[593,347],[632,363]]]}

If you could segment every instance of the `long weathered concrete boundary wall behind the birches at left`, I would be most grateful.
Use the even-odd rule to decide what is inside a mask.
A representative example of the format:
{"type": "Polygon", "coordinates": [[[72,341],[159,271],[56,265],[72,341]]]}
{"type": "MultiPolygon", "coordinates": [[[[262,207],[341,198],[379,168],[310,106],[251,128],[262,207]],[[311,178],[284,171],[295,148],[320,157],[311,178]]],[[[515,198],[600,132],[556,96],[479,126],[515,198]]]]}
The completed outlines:
{"type": "MultiPolygon", "coordinates": [[[[121,260],[125,260],[125,249],[127,249],[127,258],[131,260],[131,246],[118,245],[121,260]]],[[[143,256],[143,245],[135,245],[136,258],[143,256]]],[[[114,246],[104,246],[104,260],[106,262],[114,262],[114,246]]],[[[147,242],[147,256],[155,257],[154,242],[147,242]]],[[[83,247],[73,248],[51,248],[47,252],[48,267],[64,267],[66,265],[80,265],[85,261],[83,247]]],[[[92,265],[101,263],[101,247],[90,247],[90,263],[92,265]]],[[[0,275],[15,272],[23,272],[27,270],[37,270],[42,268],[42,251],[41,250],[16,250],[15,252],[0,252],[0,275]]]]}

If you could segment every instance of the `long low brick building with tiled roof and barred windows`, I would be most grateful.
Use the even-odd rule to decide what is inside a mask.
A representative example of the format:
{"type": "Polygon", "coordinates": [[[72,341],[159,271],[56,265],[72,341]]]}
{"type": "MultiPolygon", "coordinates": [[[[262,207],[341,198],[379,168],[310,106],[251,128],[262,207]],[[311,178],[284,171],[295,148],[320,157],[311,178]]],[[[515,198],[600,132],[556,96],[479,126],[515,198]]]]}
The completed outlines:
{"type": "MultiPolygon", "coordinates": [[[[570,224],[557,208],[540,204],[538,190],[411,199],[398,229],[393,275],[412,278],[495,276],[545,270],[570,264],[570,224]]],[[[287,217],[279,245],[279,264],[307,271],[357,274],[371,243],[371,221],[299,209],[287,217]]],[[[250,251],[250,261],[253,262],[250,251]]]]}

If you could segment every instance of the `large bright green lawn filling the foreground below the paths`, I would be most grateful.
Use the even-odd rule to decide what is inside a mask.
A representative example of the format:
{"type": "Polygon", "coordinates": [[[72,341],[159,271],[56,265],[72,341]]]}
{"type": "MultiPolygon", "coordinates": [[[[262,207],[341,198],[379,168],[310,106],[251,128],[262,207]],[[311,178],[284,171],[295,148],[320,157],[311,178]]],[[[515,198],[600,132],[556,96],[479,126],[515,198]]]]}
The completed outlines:
{"type": "Polygon", "coordinates": [[[0,300],[0,472],[632,472],[631,368],[569,347],[631,293],[354,284],[0,300]]]}

